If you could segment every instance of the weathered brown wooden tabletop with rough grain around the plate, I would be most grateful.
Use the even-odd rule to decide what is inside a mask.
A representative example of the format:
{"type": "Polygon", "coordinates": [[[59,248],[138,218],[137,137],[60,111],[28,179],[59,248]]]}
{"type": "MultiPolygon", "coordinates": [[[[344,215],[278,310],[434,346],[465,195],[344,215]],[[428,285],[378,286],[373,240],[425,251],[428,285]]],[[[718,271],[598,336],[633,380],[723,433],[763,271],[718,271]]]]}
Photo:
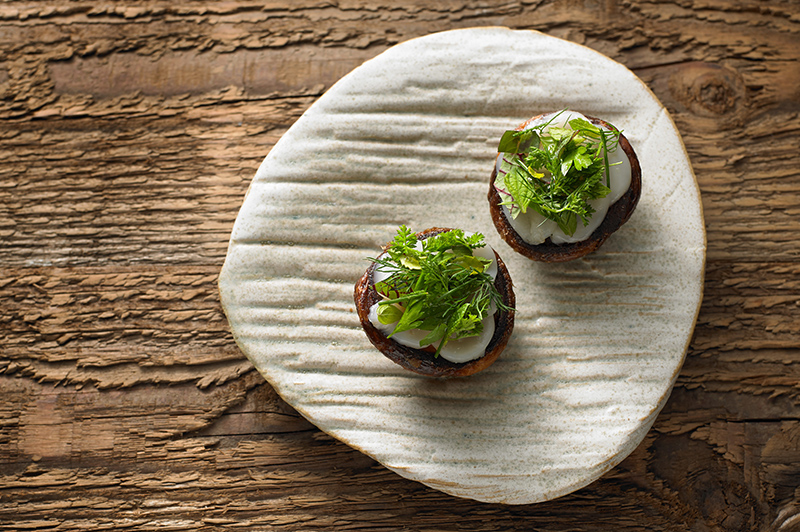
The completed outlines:
{"type": "Polygon", "coordinates": [[[789,0],[3,3],[0,530],[800,530],[798,59],[789,0]],[[653,429],[530,506],[444,495],[321,433],[238,350],[216,285],[257,166],[326,88],[487,25],[636,72],[708,231],[653,429]]]}

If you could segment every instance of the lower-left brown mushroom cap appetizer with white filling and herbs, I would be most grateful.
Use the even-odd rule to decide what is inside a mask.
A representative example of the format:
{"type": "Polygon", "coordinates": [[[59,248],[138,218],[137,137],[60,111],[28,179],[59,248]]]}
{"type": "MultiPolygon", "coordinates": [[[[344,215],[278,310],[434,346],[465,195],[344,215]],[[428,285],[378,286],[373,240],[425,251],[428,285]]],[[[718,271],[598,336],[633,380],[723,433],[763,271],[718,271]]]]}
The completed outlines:
{"type": "Polygon", "coordinates": [[[505,264],[483,235],[401,226],[355,287],[361,326],[390,360],[431,377],[489,367],[514,328],[505,264]]]}

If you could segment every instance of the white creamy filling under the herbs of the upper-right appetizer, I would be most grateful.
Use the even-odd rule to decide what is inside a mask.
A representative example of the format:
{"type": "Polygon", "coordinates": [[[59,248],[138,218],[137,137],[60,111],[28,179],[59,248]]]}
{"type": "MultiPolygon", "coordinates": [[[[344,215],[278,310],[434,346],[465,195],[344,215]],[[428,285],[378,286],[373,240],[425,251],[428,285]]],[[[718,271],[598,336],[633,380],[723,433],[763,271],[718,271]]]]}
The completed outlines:
{"type": "MultiPolygon", "coordinates": [[[[544,115],[532,121],[526,129],[546,123],[556,114],[558,113],[544,115]]],[[[565,111],[558,114],[558,117],[553,120],[552,125],[557,127],[569,127],[568,122],[574,118],[588,120],[580,113],[565,111]]],[[[608,128],[603,129],[608,130],[608,128]]],[[[500,165],[502,163],[501,156],[497,157],[496,168],[498,172],[500,171],[500,165]]],[[[550,238],[554,244],[568,244],[586,240],[603,222],[608,208],[620,199],[631,186],[631,163],[621,147],[617,146],[616,150],[608,152],[608,164],[611,192],[605,198],[589,201],[589,204],[594,208],[595,212],[589,220],[588,225],[583,225],[583,222],[578,220],[578,228],[572,236],[564,233],[553,220],[545,218],[533,209],[528,209],[527,212],[520,213],[516,218],[512,218],[508,207],[503,206],[503,212],[511,224],[511,227],[513,227],[522,239],[529,244],[541,244],[547,240],[547,238],[550,238]]],[[[504,197],[504,194],[504,192],[500,191],[501,198],[504,197]]]]}

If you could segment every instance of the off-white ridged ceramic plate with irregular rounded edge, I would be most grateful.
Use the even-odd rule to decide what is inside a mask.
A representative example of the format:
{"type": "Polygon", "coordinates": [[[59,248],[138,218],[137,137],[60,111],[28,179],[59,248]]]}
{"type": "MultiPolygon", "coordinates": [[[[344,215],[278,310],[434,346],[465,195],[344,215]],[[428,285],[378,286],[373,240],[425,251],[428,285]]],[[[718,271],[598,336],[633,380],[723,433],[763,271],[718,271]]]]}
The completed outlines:
{"type": "Polygon", "coordinates": [[[395,46],[323,95],[264,160],[220,275],[245,355],[323,431],[404,477],[522,504],[600,477],[664,405],[695,324],[705,233],[674,124],[642,82],[588,48],[476,28],[395,46]],[[569,107],[621,128],[643,194],[596,253],[517,255],[486,201],[501,133],[569,107]],[[398,225],[480,231],[517,294],[488,370],[431,380],[367,341],[353,286],[398,225]]]}

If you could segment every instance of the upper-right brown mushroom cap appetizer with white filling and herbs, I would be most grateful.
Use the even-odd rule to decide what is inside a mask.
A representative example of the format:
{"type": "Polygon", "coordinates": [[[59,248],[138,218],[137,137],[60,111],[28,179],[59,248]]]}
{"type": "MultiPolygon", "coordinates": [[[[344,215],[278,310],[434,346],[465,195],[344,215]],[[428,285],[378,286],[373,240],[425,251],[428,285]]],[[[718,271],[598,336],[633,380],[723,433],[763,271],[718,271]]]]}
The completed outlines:
{"type": "Polygon", "coordinates": [[[641,168],[614,126],[573,111],[539,115],[506,131],[489,186],[497,231],[544,262],[591,253],[633,214],[641,168]]]}

